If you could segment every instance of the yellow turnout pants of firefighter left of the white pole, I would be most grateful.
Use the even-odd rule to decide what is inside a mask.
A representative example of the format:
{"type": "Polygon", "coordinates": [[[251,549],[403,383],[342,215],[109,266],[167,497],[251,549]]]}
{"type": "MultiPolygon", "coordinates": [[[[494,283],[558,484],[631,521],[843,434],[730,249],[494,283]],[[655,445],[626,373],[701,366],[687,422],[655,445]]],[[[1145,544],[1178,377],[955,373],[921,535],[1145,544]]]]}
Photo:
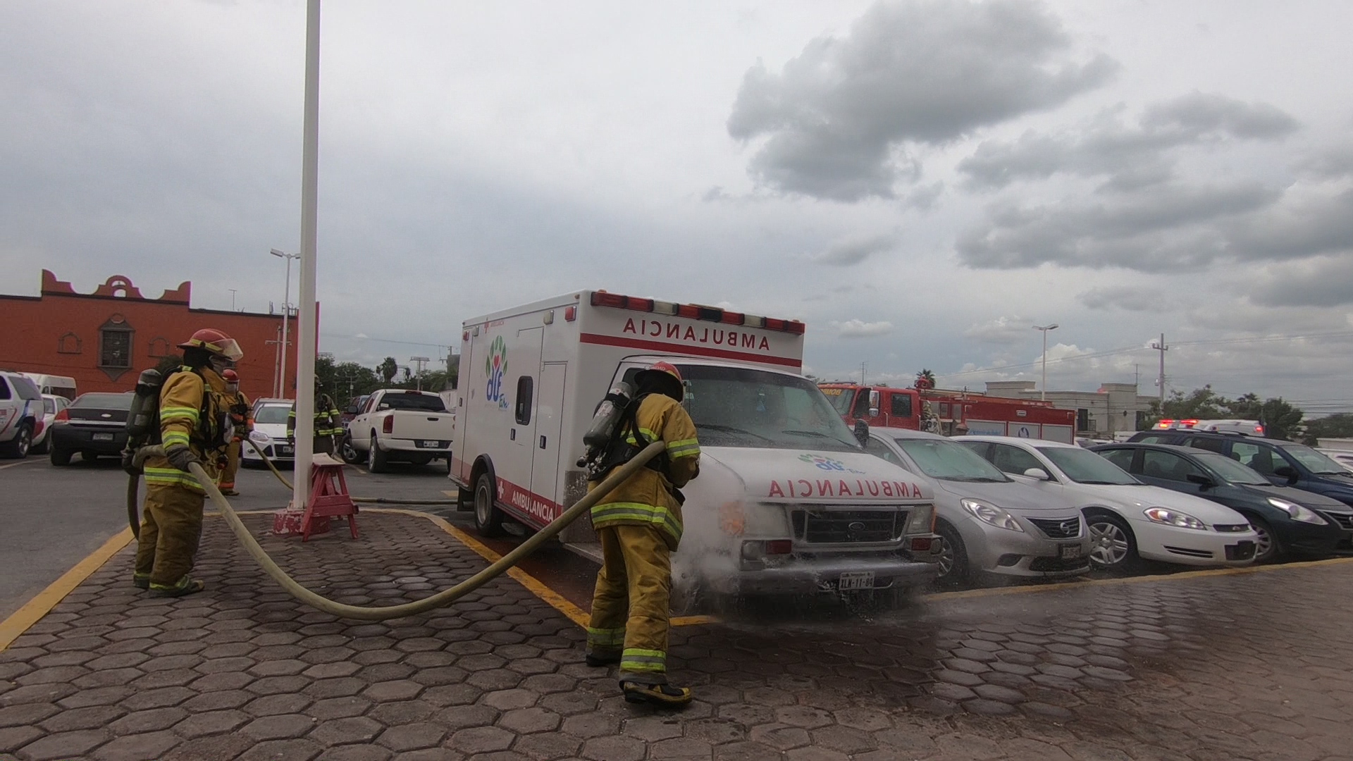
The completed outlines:
{"type": "Polygon", "coordinates": [[[202,540],[202,493],[183,486],[146,486],[135,574],[149,578],[150,589],[181,589],[191,581],[202,540]]]}

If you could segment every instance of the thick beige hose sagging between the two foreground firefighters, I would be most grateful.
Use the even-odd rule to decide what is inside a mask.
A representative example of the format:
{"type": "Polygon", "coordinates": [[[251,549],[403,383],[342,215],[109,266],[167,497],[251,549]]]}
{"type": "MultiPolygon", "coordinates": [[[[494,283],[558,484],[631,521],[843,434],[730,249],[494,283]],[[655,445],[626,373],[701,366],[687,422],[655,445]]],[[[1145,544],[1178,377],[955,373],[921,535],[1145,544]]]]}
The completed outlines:
{"type": "MultiPolygon", "coordinates": [[[[422,600],[415,600],[413,603],[403,603],[400,605],[386,605],[380,608],[364,608],[360,605],[345,605],[342,603],[334,603],[333,600],[322,597],[298,584],[296,580],[287,575],[287,571],[281,570],[281,567],[277,566],[277,563],[268,557],[268,552],[265,552],[264,548],[258,546],[258,542],[253,538],[252,534],[249,534],[249,528],[245,527],[244,521],[239,520],[239,516],[235,515],[234,508],[230,506],[230,502],[226,500],[226,497],[222,496],[219,489],[216,489],[215,481],[212,481],[211,477],[207,475],[207,471],[204,471],[202,466],[198,463],[191,463],[188,467],[192,471],[192,474],[198,478],[198,481],[202,483],[202,487],[207,490],[207,496],[211,497],[211,502],[216,506],[216,509],[221,510],[221,515],[225,516],[226,524],[229,524],[230,529],[235,532],[235,538],[239,539],[239,543],[245,546],[245,550],[249,551],[249,555],[253,557],[253,559],[262,567],[262,570],[268,575],[271,575],[273,581],[281,585],[281,588],[285,589],[292,597],[300,600],[302,603],[306,603],[307,605],[311,605],[318,611],[323,611],[326,613],[331,613],[334,616],[340,616],[344,619],[380,622],[386,619],[399,619],[403,616],[413,616],[417,613],[432,611],[434,608],[441,608],[442,605],[449,605],[451,603],[455,603],[456,600],[464,597],[469,592],[479,589],[492,578],[502,575],[503,571],[506,571],[511,566],[515,566],[518,561],[532,554],[537,547],[553,539],[560,531],[564,529],[564,527],[578,520],[579,516],[582,516],[586,510],[589,510],[597,502],[597,500],[609,494],[613,489],[620,486],[622,481],[629,478],[639,469],[644,467],[648,463],[648,460],[660,455],[663,451],[666,451],[666,444],[663,441],[653,441],[652,444],[645,447],[641,452],[639,452],[635,456],[635,459],[613,470],[610,475],[607,475],[599,485],[597,485],[595,489],[589,492],[582,500],[578,500],[578,502],[574,504],[574,506],[564,510],[564,513],[556,517],[553,521],[551,521],[549,525],[533,534],[525,542],[518,544],[513,551],[499,558],[498,562],[490,565],[487,569],[476,573],[475,575],[467,578],[465,581],[461,581],[460,584],[452,586],[451,589],[444,589],[430,597],[423,597],[422,600]]],[[[134,460],[135,467],[139,469],[149,455],[164,455],[164,447],[160,445],[142,447],[141,450],[138,450],[134,460]]],[[[134,487],[127,490],[127,498],[131,500],[131,504],[135,504],[134,487]]]]}

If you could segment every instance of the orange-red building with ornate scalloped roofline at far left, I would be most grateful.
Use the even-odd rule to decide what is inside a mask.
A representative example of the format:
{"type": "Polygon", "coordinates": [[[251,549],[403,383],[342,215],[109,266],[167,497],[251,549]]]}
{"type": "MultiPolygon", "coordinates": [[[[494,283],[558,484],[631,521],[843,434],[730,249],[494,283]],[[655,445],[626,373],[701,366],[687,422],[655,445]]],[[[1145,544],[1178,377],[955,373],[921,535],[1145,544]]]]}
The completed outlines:
{"type": "MultiPolygon", "coordinates": [[[[281,314],[192,309],[191,287],[181,283],[150,299],[114,275],[95,292],[77,294],[43,269],[41,295],[0,294],[0,368],[68,375],[80,393],[129,391],[142,370],[180,353],[176,344],[200,328],[216,328],[245,352],[237,367],[245,394],[272,395],[277,344],[268,341],[280,339],[281,314]]],[[[292,336],[295,328],[292,322],[292,336]]],[[[287,375],[294,385],[295,372],[287,375]]]]}

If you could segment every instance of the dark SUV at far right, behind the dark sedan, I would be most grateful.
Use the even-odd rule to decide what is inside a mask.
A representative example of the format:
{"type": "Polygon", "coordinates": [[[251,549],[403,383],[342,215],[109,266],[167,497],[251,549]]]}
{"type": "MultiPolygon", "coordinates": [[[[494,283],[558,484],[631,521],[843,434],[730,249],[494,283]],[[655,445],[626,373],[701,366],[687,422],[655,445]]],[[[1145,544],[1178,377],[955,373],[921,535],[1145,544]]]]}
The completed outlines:
{"type": "Polygon", "coordinates": [[[1270,483],[1296,486],[1353,506],[1353,471],[1306,444],[1201,431],[1142,431],[1130,441],[1219,452],[1260,471],[1270,483]]]}

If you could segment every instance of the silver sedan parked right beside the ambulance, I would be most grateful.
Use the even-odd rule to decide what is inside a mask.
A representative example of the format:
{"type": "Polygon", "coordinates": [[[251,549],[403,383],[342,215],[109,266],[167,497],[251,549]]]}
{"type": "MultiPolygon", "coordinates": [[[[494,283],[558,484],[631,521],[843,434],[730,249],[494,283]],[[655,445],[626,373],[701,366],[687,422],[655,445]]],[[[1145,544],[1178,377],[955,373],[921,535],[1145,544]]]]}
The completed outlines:
{"type": "Polygon", "coordinates": [[[931,482],[935,532],[944,543],[940,581],[1089,571],[1091,536],[1074,505],[1050,501],[969,448],[934,433],[871,428],[867,450],[931,482]]]}

